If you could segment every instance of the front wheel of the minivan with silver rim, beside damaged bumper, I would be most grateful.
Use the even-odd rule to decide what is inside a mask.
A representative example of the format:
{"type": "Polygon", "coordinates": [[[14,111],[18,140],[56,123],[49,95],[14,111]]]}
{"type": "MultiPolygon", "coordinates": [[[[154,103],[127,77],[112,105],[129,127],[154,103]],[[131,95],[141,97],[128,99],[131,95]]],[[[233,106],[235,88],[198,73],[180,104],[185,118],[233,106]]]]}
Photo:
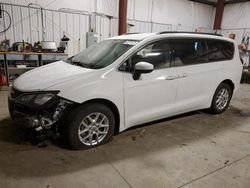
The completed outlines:
{"type": "Polygon", "coordinates": [[[62,138],[71,149],[88,149],[107,143],[114,130],[112,110],[104,104],[92,103],[68,115],[62,127],[62,138]]]}

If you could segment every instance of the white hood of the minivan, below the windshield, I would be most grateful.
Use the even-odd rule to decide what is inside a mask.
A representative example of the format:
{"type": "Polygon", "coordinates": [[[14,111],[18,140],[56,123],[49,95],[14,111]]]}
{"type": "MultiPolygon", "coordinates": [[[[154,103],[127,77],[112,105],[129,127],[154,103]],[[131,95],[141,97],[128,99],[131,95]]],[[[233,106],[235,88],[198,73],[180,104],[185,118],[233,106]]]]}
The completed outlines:
{"type": "Polygon", "coordinates": [[[13,86],[22,91],[45,90],[56,84],[72,80],[81,74],[93,71],[93,69],[58,61],[22,74],[14,81],[13,86]]]}

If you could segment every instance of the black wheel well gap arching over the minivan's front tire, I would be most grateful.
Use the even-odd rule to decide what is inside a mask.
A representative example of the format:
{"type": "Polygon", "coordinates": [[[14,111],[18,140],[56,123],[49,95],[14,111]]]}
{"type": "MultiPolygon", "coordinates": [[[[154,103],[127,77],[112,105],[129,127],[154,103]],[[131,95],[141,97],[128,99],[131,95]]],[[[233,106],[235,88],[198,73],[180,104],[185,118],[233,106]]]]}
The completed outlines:
{"type": "Polygon", "coordinates": [[[91,100],[83,102],[82,105],[89,104],[89,103],[101,103],[101,104],[108,106],[112,110],[112,112],[115,115],[115,123],[116,123],[115,134],[117,134],[120,128],[120,114],[116,105],[107,99],[91,99],[91,100]]]}

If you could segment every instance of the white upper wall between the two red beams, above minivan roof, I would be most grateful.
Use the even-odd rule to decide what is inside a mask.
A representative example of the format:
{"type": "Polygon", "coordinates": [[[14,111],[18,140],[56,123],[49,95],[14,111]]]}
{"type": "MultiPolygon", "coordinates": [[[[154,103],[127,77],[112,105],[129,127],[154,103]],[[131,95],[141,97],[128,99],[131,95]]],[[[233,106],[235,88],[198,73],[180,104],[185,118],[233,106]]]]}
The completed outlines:
{"type": "MultiPolygon", "coordinates": [[[[168,24],[171,26],[171,30],[195,31],[197,27],[200,27],[204,31],[211,31],[214,13],[213,6],[188,0],[128,1],[129,19],[168,24]]],[[[135,27],[139,27],[138,30],[141,30],[142,26],[136,25],[135,27]]],[[[162,28],[161,26],[156,27],[159,27],[160,30],[162,28]]],[[[168,27],[162,29],[168,30],[168,27]]]]}

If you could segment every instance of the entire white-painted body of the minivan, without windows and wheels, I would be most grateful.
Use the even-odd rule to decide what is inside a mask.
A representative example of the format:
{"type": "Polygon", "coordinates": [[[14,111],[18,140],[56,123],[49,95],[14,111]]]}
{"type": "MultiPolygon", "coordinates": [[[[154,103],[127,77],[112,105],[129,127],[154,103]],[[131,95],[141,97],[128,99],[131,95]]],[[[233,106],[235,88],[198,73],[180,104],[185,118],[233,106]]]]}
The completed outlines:
{"type": "Polygon", "coordinates": [[[230,61],[158,69],[142,74],[139,80],[134,80],[131,73],[117,70],[143,45],[172,37],[206,37],[233,42],[203,34],[118,36],[115,39],[138,39],[140,42],[105,68],[92,70],[60,61],[23,74],[15,80],[14,87],[23,91],[59,90],[59,96],[77,103],[91,99],[109,100],[119,111],[120,131],[156,119],[209,108],[216,88],[226,79],[238,88],[242,65],[235,43],[235,55],[230,61]],[[178,79],[166,80],[168,76],[178,79]]]}

